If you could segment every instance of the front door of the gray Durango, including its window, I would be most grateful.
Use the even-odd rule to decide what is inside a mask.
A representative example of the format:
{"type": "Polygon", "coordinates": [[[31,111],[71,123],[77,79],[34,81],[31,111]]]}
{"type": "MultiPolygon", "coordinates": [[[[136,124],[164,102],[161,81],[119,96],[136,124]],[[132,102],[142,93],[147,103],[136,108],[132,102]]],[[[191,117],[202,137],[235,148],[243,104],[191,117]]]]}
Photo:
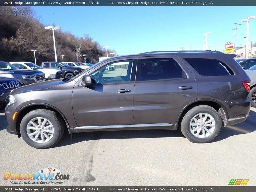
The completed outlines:
{"type": "Polygon", "coordinates": [[[77,126],[132,125],[136,58],[114,59],[97,67],[88,75],[93,84],[82,86],[82,78],[72,94],[77,126]],[[105,71],[109,65],[118,70],[105,71]]]}

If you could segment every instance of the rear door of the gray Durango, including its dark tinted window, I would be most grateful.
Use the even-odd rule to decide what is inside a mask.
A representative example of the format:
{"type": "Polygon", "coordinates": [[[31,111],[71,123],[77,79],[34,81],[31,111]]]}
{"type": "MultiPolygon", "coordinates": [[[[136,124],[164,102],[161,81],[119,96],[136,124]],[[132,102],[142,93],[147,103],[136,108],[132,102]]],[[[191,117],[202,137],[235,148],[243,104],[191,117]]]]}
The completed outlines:
{"type": "Polygon", "coordinates": [[[195,77],[178,57],[138,58],[135,124],[176,124],[184,107],[196,98],[195,77]]]}

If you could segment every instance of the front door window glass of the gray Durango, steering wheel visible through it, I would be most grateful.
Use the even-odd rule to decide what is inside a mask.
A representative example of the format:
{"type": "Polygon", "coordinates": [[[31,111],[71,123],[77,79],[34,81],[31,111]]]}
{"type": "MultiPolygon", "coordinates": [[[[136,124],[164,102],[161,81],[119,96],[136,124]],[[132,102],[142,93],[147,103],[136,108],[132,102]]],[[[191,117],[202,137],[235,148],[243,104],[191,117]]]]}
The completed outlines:
{"type": "Polygon", "coordinates": [[[111,62],[94,71],[90,76],[95,83],[101,84],[130,82],[133,65],[133,59],[111,62]],[[110,65],[114,66],[115,70],[109,71],[110,65]]]}

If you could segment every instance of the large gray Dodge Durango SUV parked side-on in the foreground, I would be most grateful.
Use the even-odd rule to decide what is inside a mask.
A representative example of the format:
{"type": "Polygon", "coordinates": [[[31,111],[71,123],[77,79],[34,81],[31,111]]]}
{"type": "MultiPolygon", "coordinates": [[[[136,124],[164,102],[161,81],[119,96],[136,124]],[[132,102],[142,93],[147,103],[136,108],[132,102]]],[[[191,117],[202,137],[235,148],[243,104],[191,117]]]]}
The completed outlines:
{"type": "Polygon", "coordinates": [[[73,78],[15,89],[7,131],[35,148],[52,147],[69,133],[181,129],[207,143],[222,126],[247,119],[250,78],[217,51],[164,51],[111,57],[73,78]],[[108,66],[114,71],[105,71],[108,66]]]}

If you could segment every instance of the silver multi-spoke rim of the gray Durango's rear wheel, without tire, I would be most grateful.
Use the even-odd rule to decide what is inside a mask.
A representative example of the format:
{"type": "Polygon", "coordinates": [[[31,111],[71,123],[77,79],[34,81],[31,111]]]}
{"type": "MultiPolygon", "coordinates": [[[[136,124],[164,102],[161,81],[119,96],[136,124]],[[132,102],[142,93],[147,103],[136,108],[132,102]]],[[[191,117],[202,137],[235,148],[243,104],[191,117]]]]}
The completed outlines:
{"type": "Polygon", "coordinates": [[[199,113],[191,119],[189,128],[195,137],[205,138],[213,133],[215,120],[209,113],[199,113]]]}

